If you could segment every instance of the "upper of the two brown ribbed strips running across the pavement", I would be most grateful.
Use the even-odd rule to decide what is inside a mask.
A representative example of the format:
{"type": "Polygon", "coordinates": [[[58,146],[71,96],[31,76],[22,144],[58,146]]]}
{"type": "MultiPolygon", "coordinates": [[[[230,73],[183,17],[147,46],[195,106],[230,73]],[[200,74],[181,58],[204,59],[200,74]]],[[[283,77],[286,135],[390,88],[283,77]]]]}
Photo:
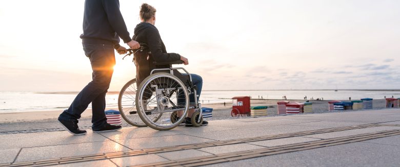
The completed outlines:
{"type": "MultiPolygon", "coordinates": [[[[374,125],[374,124],[365,124],[365,125],[358,125],[358,126],[349,126],[349,127],[339,127],[339,128],[326,128],[326,129],[319,129],[319,130],[311,130],[311,131],[303,131],[303,132],[294,132],[294,133],[287,133],[287,134],[276,134],[276,135],[266,135],[266,136],[258,136],[258,137],[250,137],[250,138],[241,138],[241,139],[230,139],[230,140],[223,140],[223,141],[212,141],[211,143],[215,144],[216,146],[225,146],[225,145],[232,145],[232,144],[240,144],[246,142],[251,142],[251,141],[259,141],[259,140],[269,140],[269,139],[277,139],[277,138],[287,138],[287,137],[295,137],[295,136],[301,136],[301,135],[310,135],[310,134],[321,134],[321,133],[329,133],[332,131],[345,131],[345,130],[352,130],[352,129],[363,129],[363,128],[372,128],[372,127],[379,127],[380,125],[374,125]],[[251,140],[254,139],[254,140],[251,140]],[[228,142],[227,142],[228,141],[228,142]]],[[[72,161],[71,159],[73,158],[79,158],[82,157],[83,161],[91,161],[95,160],[96,158],[100,157],[105,157],[108,159],[110,155],[114,155],[112,157],[126,157],[126,156],[133,156],[130,154],[135,154],[135,155],[144,155],[144,154],[149,154],[150,152],[154,151],[161,151],[161,152],[171,152],[171,151],[180,151],[180,150],[188,150],[188,149],[198,149],[198,148],[204,148],[203,146],[209,145],[209,142],[204,142],[202,144],[197,144],[196,146],[193,146],[193,144],[189,145],[182,145],[182,146],[174,146],[176,147],[175,150],[163,150],[164,148],[152,148],[152,149],[143,149],[143,150],[132,150],[132,151],[125,151],[125,152],[114,152],[114,153],[104,153],[104,154],[94,154],[94,155],[87,155],[87,156],[75,156],[75,157],[65,157],[65,158],[55,158],[55,159],[45,159],[45,160],[39,160],[39,161],[30,161],[30,162],[18,162],[18,163],[12,163],[9,166],[13,165],[32,165],[35,164],[35,162],[44,162],[46,161],[47,163],[54,163],[54,162],[61,162],[62,163],[73,163],[75,161],[72,161]],[[122,153],[122,155],[115,155],[117,153],[122,153]],[[86,157],[86,158],[85,158],[86,157]],[[92,157],[92,158],[89,158],[92,157]],[[69,161],[68,161],[69,160],[69,161]]],[[[166,147],[166,148],[171,148],[166,147]]],[[[279,147],[278,147],[279,148],[279,147]]],[[[267,148],[270,149],[270,148],[267,148]]],[[[46,163],[43,163],[43,165],[46,165],[46,163]]],[[[6,165],[7,166],[7,165],[6,165]]]]}

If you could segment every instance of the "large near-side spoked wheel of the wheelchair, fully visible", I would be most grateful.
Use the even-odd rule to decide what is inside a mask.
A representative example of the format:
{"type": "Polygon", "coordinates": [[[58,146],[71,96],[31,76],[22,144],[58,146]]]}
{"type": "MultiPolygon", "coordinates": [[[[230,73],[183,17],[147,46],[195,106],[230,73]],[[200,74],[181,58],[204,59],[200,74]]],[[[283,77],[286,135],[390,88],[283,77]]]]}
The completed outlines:
{"type": "Polygon", "coordinates": [[[185,84],[168,73],[155,73],[144,79],[136,93],[136,108],[143,122],[156,130],[170,130],[185,120],[189,110],[189,94],[185,84]],[[178,103],[179,100],[179,103],[178,103]],[[148,101],[146,104],[141,101],[148,101]],[[171,120],[177,111],[180,118],[171,120]],[[161,115],[153,120],[154,115],[161,115]]]}

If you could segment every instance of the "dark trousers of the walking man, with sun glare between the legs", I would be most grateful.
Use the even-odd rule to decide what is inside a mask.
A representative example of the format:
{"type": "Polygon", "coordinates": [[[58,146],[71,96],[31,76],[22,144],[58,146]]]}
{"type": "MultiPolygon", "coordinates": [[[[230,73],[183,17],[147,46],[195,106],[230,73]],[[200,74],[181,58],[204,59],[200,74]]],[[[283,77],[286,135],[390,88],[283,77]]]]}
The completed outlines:
{"type": "Polygon", "coordinates": [[[85,55],[92,65],[92,81],[78,93],[71,106],[59,115],[60,120],[73,121],[81,118],[81,114],[92,103],[93,128],[101,127],[107,122],[106,93],[110,87],[115,55],[110,43],[83,43],[85,55]]]}

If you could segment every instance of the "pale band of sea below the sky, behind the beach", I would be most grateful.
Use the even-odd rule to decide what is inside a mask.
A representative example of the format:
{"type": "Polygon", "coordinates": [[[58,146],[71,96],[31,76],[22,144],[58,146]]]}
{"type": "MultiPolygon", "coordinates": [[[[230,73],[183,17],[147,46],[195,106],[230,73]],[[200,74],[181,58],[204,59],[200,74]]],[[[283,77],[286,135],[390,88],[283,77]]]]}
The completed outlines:
{"type": "MultiPolygon", "coordinates": [[[[69,107],[78,92],[0,92],[0,112],[63,111],[69,107]]],[[[231,98],[249,96],[251,99],[288,100],[324,99],[359,100],[362,98],[400,98],[395,90],[203,90],[199,102],[203,104],[230,103],[231,98]]],[[[107,108],[118,107],[118,92],[106,95],[107,108]]],[[[88,108],[91,108],[89,105],[88,108]]]]}

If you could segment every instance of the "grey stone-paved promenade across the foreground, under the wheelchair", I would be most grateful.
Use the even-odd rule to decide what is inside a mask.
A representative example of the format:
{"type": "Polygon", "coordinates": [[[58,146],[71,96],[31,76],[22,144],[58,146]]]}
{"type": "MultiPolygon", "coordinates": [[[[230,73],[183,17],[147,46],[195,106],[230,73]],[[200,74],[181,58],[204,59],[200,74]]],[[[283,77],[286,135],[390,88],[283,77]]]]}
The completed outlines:
{"type": "Polygon", "coordinates": [[[400,109],[216,120],[169,131],[0,134],[0,166],[399,166],[398,153],[400,109]]]}

